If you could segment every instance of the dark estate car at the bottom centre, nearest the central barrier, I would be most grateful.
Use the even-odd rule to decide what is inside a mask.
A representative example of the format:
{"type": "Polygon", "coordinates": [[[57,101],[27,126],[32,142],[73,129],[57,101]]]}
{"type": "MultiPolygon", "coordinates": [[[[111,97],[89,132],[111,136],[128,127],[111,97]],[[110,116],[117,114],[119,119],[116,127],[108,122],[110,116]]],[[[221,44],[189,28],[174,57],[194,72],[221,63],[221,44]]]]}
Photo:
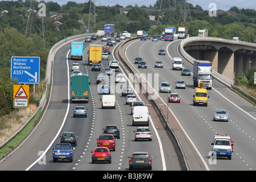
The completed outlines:
{"type": "Polygon", "coordinates": [[[131,156],[128,157],[129,160],[129,169],[142,169],[146,168],[152,170],[152,158],[148,152],[133,152],[131,156]]]}

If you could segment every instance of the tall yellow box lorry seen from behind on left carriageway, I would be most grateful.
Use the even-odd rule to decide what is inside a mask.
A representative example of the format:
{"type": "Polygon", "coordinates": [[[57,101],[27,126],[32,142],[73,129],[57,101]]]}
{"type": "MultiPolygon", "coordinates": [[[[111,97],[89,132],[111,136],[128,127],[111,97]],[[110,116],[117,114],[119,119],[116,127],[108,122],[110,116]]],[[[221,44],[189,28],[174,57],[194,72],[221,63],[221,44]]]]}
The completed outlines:
{"type": "Polygon", "coordinates": [[[102,47],[98,44],[90,44],[88,51],[88,64],[101,64],[102,47]]]}

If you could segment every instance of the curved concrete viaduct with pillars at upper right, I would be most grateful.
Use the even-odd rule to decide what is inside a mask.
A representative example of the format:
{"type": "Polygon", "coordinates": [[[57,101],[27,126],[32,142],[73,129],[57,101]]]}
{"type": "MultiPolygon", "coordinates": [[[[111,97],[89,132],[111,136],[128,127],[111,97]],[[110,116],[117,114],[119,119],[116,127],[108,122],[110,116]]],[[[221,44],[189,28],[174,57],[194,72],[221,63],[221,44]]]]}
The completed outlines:
{"type": "Polygon", "coordinates": [[[213,70],[229,80],[256,65],[256,44],[221,38],[192,37],[181,44],[196,60],[212,61],[213,70]]]}

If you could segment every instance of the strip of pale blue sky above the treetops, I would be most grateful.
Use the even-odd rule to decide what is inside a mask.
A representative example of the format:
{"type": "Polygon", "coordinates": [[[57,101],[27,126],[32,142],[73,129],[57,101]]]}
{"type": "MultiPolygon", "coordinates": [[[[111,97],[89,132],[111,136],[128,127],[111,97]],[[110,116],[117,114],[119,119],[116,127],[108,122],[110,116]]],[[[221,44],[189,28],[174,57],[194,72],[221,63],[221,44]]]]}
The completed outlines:
{"type": "MultiPolygon", "coordinates": [[[[38,0],[39,1],[39,0],[38,0]]],[[[45,0],[45,2],[53,1],[57,2],[59,5],[65,5],[69,1],[74,1],[77,3],[88,2],[88,0],[45,0]]],[[[94,1],[94,0],[93,0],[94,1]]],[[[116,4],[126,7],[128,5],[135,6],[154,6],[156,0],[95,0],[96,6],[114,6],[116,4]]],[[[256,0],[187,0],[188,3],[192,3],[193,6],[199,5],[204,10],[210,10],[212,6],[209,7],[210,3],[215,3],[217,10],[229,10],[230,7],[237,6],[239,9],[256,9],[256,0]]]]}

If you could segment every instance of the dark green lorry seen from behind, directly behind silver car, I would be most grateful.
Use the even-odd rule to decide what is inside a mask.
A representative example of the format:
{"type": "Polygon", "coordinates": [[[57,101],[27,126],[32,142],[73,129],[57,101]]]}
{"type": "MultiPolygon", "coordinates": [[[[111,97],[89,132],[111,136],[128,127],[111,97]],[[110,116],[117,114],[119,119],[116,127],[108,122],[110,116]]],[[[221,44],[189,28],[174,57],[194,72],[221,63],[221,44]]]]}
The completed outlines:
{"type": "Polygon", "coordinates": [[[72,102],[89,101],[89,84],[89,75],[87,73],[77,73],[71,76],[72,102]]]}

